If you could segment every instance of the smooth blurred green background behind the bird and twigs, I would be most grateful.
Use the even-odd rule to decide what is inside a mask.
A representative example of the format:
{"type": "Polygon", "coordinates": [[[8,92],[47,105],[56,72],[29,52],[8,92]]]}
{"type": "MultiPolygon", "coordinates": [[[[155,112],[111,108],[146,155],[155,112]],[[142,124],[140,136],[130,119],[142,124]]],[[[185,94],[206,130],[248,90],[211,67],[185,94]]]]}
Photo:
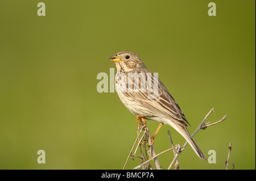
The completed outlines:
{"type": "MultiPolygon", "coordinates": [[[[0,1],[0,169],[122,169],[137,137],[116,92],[97,92],[108,58],[131,51],[156,72],[208,158],[190,146],[181,169],[255,169],[255,1],[0,1]],[[39,2],[46,16],[38,16],[39,2]],[[46,164],[37,162],[46,151],[46,164]]],[[[154,133],[158,123],[147,122],[154,133]]],[[[157,153],[185,140],[164,125],[157,153]]],[[[159,156],[166,169],[172,151],[159,156]]],[[[139,165],[129,160],[126,169],[139,165]]]]}

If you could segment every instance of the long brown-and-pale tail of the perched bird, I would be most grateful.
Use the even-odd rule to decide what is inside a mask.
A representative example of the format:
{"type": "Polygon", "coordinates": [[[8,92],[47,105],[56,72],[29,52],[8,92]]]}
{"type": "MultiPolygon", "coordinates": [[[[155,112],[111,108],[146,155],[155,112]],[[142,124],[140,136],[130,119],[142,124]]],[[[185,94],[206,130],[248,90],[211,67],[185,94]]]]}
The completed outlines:
{"type": "Polygon", "coordinates": [[[183,127],[183,125],[174,123],[173,121],[169,121],[169,123],[170,123],[171,127],[176,129],[176,131],[179,132],[185,138],[185,140],[187,140],[188,144],[196,152],[196,154],[199,156],[199,158],[207,160],[205,158],[203,152],[200,150],[199,146],[196,144],[195,140],[193,140],[192,136],[189,134],[187,128],[183,127]]]}

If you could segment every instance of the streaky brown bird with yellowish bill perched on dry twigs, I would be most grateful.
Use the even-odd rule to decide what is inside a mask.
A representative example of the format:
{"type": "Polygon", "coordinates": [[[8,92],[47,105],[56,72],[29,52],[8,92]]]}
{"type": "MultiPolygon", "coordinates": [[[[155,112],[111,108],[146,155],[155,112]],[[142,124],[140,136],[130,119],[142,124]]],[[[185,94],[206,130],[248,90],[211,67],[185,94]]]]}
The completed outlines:
{"type": "Polygon", "coordinates": [[[141,58],[133,52],[124,51],[114,54],[109,60],[117,68],[115,90],[126,108],[137,115],[137,123],[141,124],[139,120],[145,123],[144,119],[160,123],[151,137],[152,141],[163,124],[170,125],[187,140],[199,158],[207,160],[188,132],[189,123],[183,111],[160,79],[146,68],[141,58]]]}

